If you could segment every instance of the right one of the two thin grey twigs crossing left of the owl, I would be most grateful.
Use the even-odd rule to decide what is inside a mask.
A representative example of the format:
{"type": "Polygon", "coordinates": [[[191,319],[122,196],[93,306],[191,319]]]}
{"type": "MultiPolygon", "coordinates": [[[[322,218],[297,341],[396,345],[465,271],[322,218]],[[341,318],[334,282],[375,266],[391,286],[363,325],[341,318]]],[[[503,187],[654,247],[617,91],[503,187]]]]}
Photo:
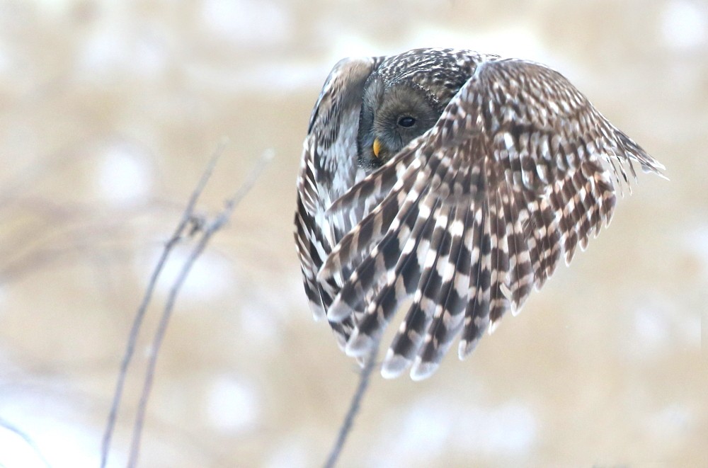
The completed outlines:
{"type": "Polygon", "coordinates": [[[159,350],[160,347],[162,346],[162,341],[164,339],[165,333],[167,331],[167,325],[169,324],[169,319],[172,315],[172,310],[174,308],[174,304],[177,299],[177,295],[179,294],[181,287],[186,280],[187,276],[189,275],[189,272],[194,265],[195,261],[197,258],[201,255],[201,253],[204,251],[206,248],[207,244],[209,243],[211,237],[219,230],[221,229],[224,224],[226,224],[229,221],[229,218],[232,215],[232,212],[234,211],[234,208],[236,205],[239,204],[239,202],[244,198],[246,193],[253,187],[253,184],[256,182],[256,179],[258,176],[261,174],[263,169],[265,168],[265,165],[268,164],[268,161],[273,158],[273,153],[272,152],[265,152],[261,156],[260,159],[256,162],[256,166],[253,168],[251,173],[249,174],[248,177],[246,177],[246,181],[241,185],[241,187],[236,190],[236,193],[232,196],[232,198],[229,198],[227,200],[226,205],[224,206],[224,209],[222,212],[219,213],[219,215],[209,224],[207,224],[207,227],[203,229],[202,235],[200,236],[200,239],[198,241],[198,244],[194,247],[192,252],[190,253],[190,256],[187,258],[185,263],[182,266],[182,269],[180,270],[180,273],[175,280],[174,284],[171,287],[171,290],[169,292],[169,296],[167,298],[167,301],[165,303],[165,307],[162,312],[162,316],[160,317],[160,322],[157,326],[157,330],[155,332],[155,336],[152,341],[152,349],[150,353],[150,357],[148,360],[148,365],[147,365],[147,371],[145,373],[145,380],[144,380],[144,386],[142,389],[142,394],[140,396],[140,401],[138,404],[138,409],[137,409],[137,416],[135,418],[135,426],[133,429],[133,437],[132,437],[132,443],[130,445],[130,458],[128,459],[128,466],[129,467],[135,467],[137,465],[137,460],[139,457],[139,451],[140,451],[140,438],[142,435],[142,428],[144,426],[144,418],[145,418],[145,412],[147,409],[147,401],[150,396],[150,391],[152,390],[152,382],[154,379],[155,375],[155,367],[157,365],[157,357],[159,355],[159,350]]]}

